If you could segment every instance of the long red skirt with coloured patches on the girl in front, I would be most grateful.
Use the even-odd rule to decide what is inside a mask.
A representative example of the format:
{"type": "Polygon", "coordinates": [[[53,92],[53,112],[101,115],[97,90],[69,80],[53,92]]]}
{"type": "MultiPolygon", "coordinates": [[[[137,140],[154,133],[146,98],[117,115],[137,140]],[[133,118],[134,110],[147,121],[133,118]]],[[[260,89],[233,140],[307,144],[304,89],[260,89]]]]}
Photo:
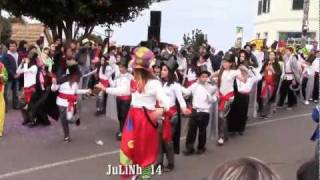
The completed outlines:
{"type": "MultiPolygon", "coordinates": [[[[150,115],[152,111],[147,111],[150,115]]],[[[152,120],[156,123],[156,120],[152,120]]],[[[147,120],[142,108],[131,107],[125,122],[120,144],[120,164],[137,164],[142,168],[154,164],[158,155],[157,129],[147,120]]]]}

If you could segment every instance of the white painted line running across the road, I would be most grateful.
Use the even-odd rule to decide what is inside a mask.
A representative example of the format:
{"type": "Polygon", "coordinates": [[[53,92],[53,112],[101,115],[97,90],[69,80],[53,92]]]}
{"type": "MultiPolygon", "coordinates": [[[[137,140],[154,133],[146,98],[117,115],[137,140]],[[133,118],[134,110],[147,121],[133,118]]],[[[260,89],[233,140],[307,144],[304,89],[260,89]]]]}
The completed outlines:
{"type": "MultiPolygon", "coordinates": [[[[263,125],[263,124],[284,121],[284,120],[288,120],[288,119],[301,118],[301,117],[306,117],[306,116],[310,116],[310,113],[288,116],[288,117],[283,117],[283,118],[277,118],[277,119],[262,121],[262,122],[254,122],[254,123],[248,124],[247,126],[254,127],[254,126],[259,126],[259,125],[263,125]]],[[[185,139],[186,139],[186,137],[184,136],[184,137],[181,137],[180,140],[185,140],[185,139]]],[[[76,162],[80,162],[80,161],[85,161],[85,160],[96,159],[99,157],[105,157],[105,156],[118,154],[118,153],[119,153],[119,150],[114,150],[114,151],[110,151],[110,152],[98,153],[98,154],[93,154],[90,156],[84,156],[84,157],[74,158],[74,159],[70,159],[70,160],[66,160],[66,161],[59,161],[59,162],[36,166],[36,167],[28,168],[28,169],[13,171],[13,172],[1,174],[0,179],[5,179],[5,178],[9,178],[12,176],[18,176],[18,175],[22,175],[22,174],[28,174],[28,173],[32,173],[35,171],[49,169],[49,168],[53,168],[53,167],[57,167],[57,166],[68,165],[68,164],[72,164],[72,163],[76,163],[76,162]]]]}

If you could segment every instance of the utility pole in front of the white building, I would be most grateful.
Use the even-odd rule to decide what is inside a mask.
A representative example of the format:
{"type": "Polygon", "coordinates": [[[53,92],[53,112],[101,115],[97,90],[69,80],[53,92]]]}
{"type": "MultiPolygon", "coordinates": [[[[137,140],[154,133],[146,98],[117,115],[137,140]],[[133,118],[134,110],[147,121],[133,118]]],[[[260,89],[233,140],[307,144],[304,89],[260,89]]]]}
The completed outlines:
{"type": "Polygon", "coordinates": [[[309,31],[309,6],[310,0],[304,0],[303,2],[303,19],[302,19],[302,35],[301,35],[301,47],[304,48],[307,44],[307,33],[309,31]]]}

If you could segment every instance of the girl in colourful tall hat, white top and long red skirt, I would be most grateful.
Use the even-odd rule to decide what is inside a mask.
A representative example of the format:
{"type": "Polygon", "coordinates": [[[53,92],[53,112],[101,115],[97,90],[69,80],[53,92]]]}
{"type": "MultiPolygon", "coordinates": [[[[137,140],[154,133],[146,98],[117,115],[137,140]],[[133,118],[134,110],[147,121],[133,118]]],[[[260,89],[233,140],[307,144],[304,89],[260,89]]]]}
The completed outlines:
{"type": "MultiPolygon", "coordinates": [[[[129,168],[129,165],[138,165],[142,167],[142,179],[151,178],[152,166],[157,160],[159,150],[157,120],[170,108],[168,97],[160,81],[152,75],[150,61],[153,58],[154,54],[146,47],[138,47],[134,50],[134,80],[131,81],[130,87],[131,107],[120,144],[120,164],[123,170],[129,168]],[[162,107],[156,108],[157,101],[160,101],[162,107]]],[[[117,92],[101,84],[96,87],[117,96],[126,92],[126,87],[117,92]]]]}

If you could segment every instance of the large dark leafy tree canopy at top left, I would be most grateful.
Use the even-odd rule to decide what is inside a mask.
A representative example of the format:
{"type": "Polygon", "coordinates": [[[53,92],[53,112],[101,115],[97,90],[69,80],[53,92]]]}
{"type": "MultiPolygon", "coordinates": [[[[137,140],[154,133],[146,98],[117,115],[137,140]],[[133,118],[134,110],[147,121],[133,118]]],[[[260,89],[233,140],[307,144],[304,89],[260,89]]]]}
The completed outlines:
{"type": "Polygon", "coordinates": [[[121,24],[135,19],[152,0],[1,0],[0,9],[14,16],[29,16],[47,25],[53,38],[84,36],[97,25],[121,24]]]}

